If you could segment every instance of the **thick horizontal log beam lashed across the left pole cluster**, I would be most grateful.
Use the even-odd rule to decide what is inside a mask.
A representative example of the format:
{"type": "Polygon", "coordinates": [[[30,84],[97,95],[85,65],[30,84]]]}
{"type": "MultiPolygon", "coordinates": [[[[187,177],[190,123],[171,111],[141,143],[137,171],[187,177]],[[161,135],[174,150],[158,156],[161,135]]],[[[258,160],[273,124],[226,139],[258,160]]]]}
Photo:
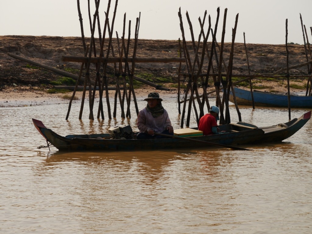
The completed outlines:
{"type": "MultiPolygon", "coordinates": [[[[84,56],[62,56],[62,61],[64,62],[80,62],[80,63],[87,63],[89,60],[88,57],[84,56]]],[[[90,62],[91,63],[117,63],[120,62],[119,57],[110,57],[108,59],[102,57],[100,60],[100,57],[91,57],[90,62]]],[[[170,62],[178,62],[178,63],[184,63],[184,58],[122,58],[122,62],[135,62],[135,63],[170,63],[170,62]]]]}

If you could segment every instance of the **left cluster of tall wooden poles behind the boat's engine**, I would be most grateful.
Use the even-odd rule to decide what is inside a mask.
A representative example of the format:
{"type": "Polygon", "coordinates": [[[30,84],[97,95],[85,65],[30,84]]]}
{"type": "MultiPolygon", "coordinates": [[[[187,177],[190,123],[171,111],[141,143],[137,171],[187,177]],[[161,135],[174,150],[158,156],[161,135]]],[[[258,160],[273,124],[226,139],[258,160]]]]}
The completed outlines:
{"type": "MultiPolygon", "coordinates": [[[[98,112],[97,112],[97,118],[104,119],[104,104],[102,101],[103,98],[103,92],[105,90],[105,96],[106,96],[106,105],[107,105],[107,112],[108,112],[108,117],[109,119],[112,118],[111,116],[111,109],[110,109],[110,99],[109,99],[109,87],[108,87],[108,78],[107,78],[107,69],[108,69],[108,63],[114,63],[114,78],[115,78],[115,83],[116,83],[116,90],[115,90],[115,102],[114,102],[114,112],[113,112],[113,117],[116,117],[116,110],[117,110],[117,102],[119,101],[120,109],[121,109],[121,118],[126,118],[129,117],[131,118],[130,114],[130,100],[131,100],[131,94],[133,96],[133,101],[136,109],[136,114],[139,113],[138,106],[136,103],[136,98],[135,98],[135,93],[134,93],[134,87],[133,87],[133,79],[134,79],[134,66],[135,66],[135,60],[136,60],[136,47],[137,47],[137,42],[138,42],[138,32],[139,32],[139,17],[136,20],[136,28],[135,28],[135,40],[134,40],[134,53],[132,58],[130,59],[128,57],[129,53],[129,43],[130,43],[130,25],[131,21],[129,21],[129,35],[128,35],[128,41],[125,39],[125,27],[126,27],[126,14],[124,14],[124,27],[123,27],[123,36],[121,38],[121,46],[119,44],[119,38],[118,38],[118,33],[116,32],[117,35],[117,41],[118,41],[118,56],[115,56],[115,51],[114,47],[112,45],[112,37],[113,37],[113,30],[114,30],[114,22],[115,22],[115,16],[116,16],[116,10],[117,10],[117,5],[118,5],[118,0],[115,1],[115,8],[113,12],[113,18],[111,21],[111,24],[109,23],[109,11],[110,11],[110,0],[108,1],[107,4],[107,11],[105,12],[105,24],[104,24],[104,29],[103,29],[103,34],[101,33],[101,27],[100,27],[100,17],[99,17],[99,6],[100,6],[100,0],[95,0],[95,6],[96,10],[93,15],[93,20],[91,19],[91,12],[90,12],[90,1],[88,1],[89,4],[89,21],[90,21],[90,30],[91,30],[91,38],[90,38],[90,43],[89,45],[85,43],[85,37],[84,37],[84,29],[83,29],[83,24],[82,24],[82,16],[80,12],[80,2],[77,0],[77,7],[78,7],[78,14],[79,14],[79,20],[80,20],[80,27],[81,27],[81,35],[82,35],[82,41],[83,41],[83,46],[85,49],[85,55],[83,57],[77,57],[77,56],[65,56],[63,57],[63,61],[76,61],[76,62],[81,62],[81,68],[80,68],[80,74],[79,77],[82,76],[82,70],[85,68],[85,76],[84,76],[84,89],[83,89],[83,94],[82,94],[82,100],[81,100],[81,107],[80,107],[80,114],[79,114],[79,119],[82,118],[82,113],[83,113],[83,107],[84,107],[84,100],[85,100],[85,95],[87,91],[87,86],[89,86],[89,109],[90,109],[90,114],[89,118],[91,120],[94,119],[93,115],[93,107],[94,107],[94,100],[95,100],[95,92],[99,90],[99,96],[100,96],[100,101],[99,101],[99,106],[98,106],[98,112]],[[96,41],[94,37],[94,32],[95,32],[95,27],[98,27],[98,32],[99,32],[99,45],[100,45],[100,54],[96,54],[96,41]],[[105,35],[106,32],[109,34],[109,41],[106,43],[108,46],[107,48],[104,48],[105,45],[105,35]],[[127,45],[127,47],[125,46],[127,45]],[[104,49],[106,49],[106,54],[104,53],[104,49]],[[111,56],[111,57],[110,57],[111,56]],[[132,63],[132,67],[129,67],[129,62],[132,63]],[[96,67],[96,78],[95,81],[90,80],[90,65],[91,63],[95,63],[96,67]],[[124,63],[124,67],[123,67],[124,63]],[[118,66],[117,66],[118,64],[118,66]],[[100,71],[101,68],[103,69],[102,77],[100,76],[100,71]],[[129,78],[129,89],[127,89],[127,81],[126,77],[129,78]],[[101,79],[102,78],[102,79],[101,79]],[[120,88],[119,85],[119,80],[122,80],[123,83],[123,88],[120,88]],[[94,85],[94,87],[92,87],[94,85]],[[118,99],[117,99],[118,97],[118,99]],[[126,105],[127,112],[125,114],[124,108],[126,105]]],[[[171,61],[170,59],[167,61],[171,61]]],[[[167,62],[165,61],[165,62],[167,62]]],[[[144,61],[145,62],[145,61],[144,61]]],[[[150,62],[150,61],[149,61],[150,62]]],[[[74,89],[73,95],[71,97],[71,101],[73,100],[76,89],[78,86],[80,79],[77,79],[77,84],[74,89]]],[[[66,119],[69,117],[70,109],[71,109],[71,101],[70,105],[68,108],[68,112],[66,115],[66,119]]]]}

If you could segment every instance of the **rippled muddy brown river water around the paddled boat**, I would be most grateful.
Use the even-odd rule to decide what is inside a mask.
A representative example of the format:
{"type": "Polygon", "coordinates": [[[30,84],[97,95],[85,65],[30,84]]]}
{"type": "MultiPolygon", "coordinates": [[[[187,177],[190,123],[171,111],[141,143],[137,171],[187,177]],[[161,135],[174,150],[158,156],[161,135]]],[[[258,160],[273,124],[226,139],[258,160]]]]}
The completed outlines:
{"type": "MultiPolygon", "coordinates": [[[[165,99],[163,106],[178,129],[176,99],[165,99]]],[[[252,151],[37,149],[46,142],[32,118],[61,135],[106,132],[115,124],[136,130],[136,118],[89,121],[86,107],[79,120],[80,102],[65,120],[67,108],[0,108],[1,233],[312,232],[311,120],[283,143],[242,146],[252,151]]],[[[285,109],[240,111],[243,121],[257,126],[288,121],[285,109]]],[[[292,110],[291,117],[306,111],[292,110]]]]}

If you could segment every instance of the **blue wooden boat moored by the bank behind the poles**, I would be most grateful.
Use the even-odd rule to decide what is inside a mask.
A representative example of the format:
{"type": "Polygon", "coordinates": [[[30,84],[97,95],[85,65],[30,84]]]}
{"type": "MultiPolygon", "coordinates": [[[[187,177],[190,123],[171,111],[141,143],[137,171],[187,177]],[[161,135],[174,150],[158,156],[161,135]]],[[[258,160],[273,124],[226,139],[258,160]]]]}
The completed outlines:
{"type": "MultiPolygon", "coordinates": [[[[235,97],[238,105],[252,105],[250,90],[234,88],[235,97]]],[[[275,94],[259,90],[253,91],[255,105],[288,107],[288,96],[286,94],[275,94]]],[[[234,102],[232,91],[230,101],[234,102]]],[[[290,95],[291,108],[312,108],[312,96],[290,95]]]]}

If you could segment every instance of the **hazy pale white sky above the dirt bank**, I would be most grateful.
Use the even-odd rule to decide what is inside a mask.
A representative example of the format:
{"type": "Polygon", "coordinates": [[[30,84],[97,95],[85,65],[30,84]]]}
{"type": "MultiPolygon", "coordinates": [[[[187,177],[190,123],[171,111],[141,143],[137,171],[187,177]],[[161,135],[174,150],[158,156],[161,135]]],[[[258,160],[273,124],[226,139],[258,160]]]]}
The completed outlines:
{"type": "MultiPolygon", "coordinates": [[[[84,34],[90,37],[87,0],[80,0],[84,23],[84,34]]],[[[100,20],[103,31],[108,0],[100,0],[100,20]]],[[[90,0],[91,17],[95,2],[90,0]]],[[[208,15],[212,28],[216,23],[217,7],[220,7],[217,41],[221,41],[224,10],[227,8],[225,42],[232,41],[232,28],[238,16],[236,42],[260,44],[285,44],[286,19],[288,19],[288,42],[303,44],[300,13],[303,24],[311,39],[311,0],[119,0],[114,24],[119,37],[122,35],[124,13],[126,13],[126,35],[131,20],[131,38],[134,38],[136,18],[140,18],[139,38],[176,40],[182,38],[178,11],[181,7],[186,39],[190,40],[190,30],[186,18],[188,12],[195,40],[200,32],[198,17],[203,19],[207,10],[204,31],[208,28],[208,15]]],[[[115,0],[111,0],[109,18],[113,18],[115,0]]],[[[97,31],[97,28],[96,28],[97,31]]],[[[81,36],[76,0],[0,0],[0,35],[32,36],[81,36]]],[[[108,35],[108,34],[106,34],[108,35]]],[[[98,37],[98,34],[95,34],[98,37]]],[[[211,37],[209,37],[211,41],[211,37]]],[[[1,43],[1,42],[0,42],[1,43]]]]}

